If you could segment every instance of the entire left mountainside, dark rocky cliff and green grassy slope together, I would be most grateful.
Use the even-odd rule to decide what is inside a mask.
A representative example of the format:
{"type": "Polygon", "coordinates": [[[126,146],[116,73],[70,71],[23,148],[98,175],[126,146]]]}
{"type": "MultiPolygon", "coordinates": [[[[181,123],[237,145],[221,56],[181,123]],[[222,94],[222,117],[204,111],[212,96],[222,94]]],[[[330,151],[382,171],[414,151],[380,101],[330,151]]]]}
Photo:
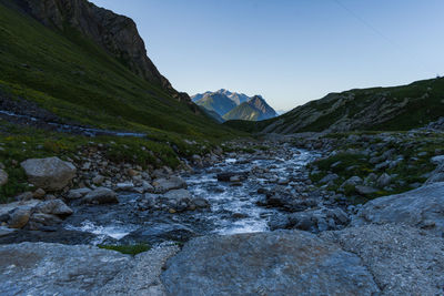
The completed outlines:
{"type": "Polygon", "coordinates": [[[131,19],[87,0],[0,0],[0,40],[2,106],[103,129],[231,133],[160,74],[131,19]]]}

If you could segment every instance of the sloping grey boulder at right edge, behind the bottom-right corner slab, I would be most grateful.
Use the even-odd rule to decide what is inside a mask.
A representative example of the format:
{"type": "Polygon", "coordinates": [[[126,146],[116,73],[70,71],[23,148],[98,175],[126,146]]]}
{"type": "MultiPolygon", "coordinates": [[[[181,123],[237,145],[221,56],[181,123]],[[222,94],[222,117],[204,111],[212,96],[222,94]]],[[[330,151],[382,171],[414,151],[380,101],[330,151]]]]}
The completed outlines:
{"type": "Polygon", "coordinates": [[[441,234],[444,231],[444,183],[367,202],[353,217],[352,225],[366,223],[405,223],[441,234]]]}

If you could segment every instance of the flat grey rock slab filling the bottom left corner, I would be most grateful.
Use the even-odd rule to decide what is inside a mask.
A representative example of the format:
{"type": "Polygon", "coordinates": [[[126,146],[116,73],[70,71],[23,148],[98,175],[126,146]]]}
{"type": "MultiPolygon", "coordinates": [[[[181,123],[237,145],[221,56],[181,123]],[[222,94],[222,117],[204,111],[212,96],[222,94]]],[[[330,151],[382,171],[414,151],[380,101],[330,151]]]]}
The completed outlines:
{"type": "Polygon", "coordinates": [[[131,261],[131,256],[85,245],[1,245],[0,290],[4,295],[100,295],[131,261]]]}

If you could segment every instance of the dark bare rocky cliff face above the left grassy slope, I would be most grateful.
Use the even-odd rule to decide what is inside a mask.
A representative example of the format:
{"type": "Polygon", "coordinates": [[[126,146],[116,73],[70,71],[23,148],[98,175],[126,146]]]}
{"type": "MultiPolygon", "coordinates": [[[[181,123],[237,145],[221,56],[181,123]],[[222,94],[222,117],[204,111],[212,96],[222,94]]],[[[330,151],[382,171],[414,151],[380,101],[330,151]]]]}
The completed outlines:
{"type": "Polygon", "coordinates": [[[47,27],[70,25],[92,39],[109,54],[149,82],[160,84],[178,100],[180,95],[147,55],[145,44],[130,18],[99,8],[87,0],[20,0],[23,9],[47,27]]]}

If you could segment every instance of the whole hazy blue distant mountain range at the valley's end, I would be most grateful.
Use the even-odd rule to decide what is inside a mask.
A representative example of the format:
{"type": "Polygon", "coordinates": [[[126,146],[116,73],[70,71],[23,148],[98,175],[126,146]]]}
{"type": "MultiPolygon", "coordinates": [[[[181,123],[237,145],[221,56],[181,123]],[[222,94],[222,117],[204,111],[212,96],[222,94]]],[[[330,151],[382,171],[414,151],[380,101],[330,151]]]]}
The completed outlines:
{"type": "Polygon", "coordinates": [[[250,98],[244,93],[221,89],[216,92],[198,93],[191,100],[208,111],[218,113],[223,120],[259,121],[278,116],[261,95],[250,98]]]}

